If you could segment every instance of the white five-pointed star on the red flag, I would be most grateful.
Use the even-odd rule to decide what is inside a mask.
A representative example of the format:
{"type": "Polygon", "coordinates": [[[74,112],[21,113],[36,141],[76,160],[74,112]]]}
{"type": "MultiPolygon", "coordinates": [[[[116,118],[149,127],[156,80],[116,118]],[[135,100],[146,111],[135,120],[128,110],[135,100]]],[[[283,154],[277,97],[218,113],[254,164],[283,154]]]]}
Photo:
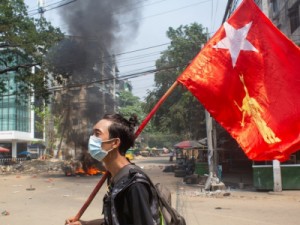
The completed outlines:
{"type": "Polygon", "coordinates": [[[258,50],[246,39],[251,25],[252,22],[240,29],[235,29],[229,23],[225,22],[224,29],[226,37],[213,46],[213,48],[229,50],[233,67],[235,67],[241,50],[258,52],[258,50]]]}

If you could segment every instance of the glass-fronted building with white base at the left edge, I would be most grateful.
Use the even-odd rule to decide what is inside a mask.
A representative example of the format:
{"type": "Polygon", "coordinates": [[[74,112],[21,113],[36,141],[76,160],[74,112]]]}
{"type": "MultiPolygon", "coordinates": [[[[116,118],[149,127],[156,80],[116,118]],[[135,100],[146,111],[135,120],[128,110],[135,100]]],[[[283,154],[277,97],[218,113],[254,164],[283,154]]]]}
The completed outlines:
{"type": "Polygon", "coordinates": [[[6,91],[0,95],[0,146],[10,150],[6,154],[9,158],[17,158],[18,153],[27,151],[31,142],[43,141],[43,132],[35,127],[38,118],[32,109],[34,97],[15,94],[21,87],[16,76],[16,72],[1,75],[6,91]]]}

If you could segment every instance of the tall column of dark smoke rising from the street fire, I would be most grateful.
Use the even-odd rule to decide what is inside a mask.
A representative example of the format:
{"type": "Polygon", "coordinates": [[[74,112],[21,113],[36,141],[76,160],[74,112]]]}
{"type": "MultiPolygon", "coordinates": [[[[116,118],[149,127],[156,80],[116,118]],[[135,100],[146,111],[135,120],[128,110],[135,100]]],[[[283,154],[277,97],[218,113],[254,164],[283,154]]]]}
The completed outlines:
{"type": "Polygon", "coordinates": [[[62,117],[64,142],[77,151],[87,146],[92,125],[116,108],[112,56],[133,43],[145,0],[69,1],[60,8],[66,38],[47,59],[53,77],[62,77],[67,86],[55,97],[52,110],[62,117]]]}

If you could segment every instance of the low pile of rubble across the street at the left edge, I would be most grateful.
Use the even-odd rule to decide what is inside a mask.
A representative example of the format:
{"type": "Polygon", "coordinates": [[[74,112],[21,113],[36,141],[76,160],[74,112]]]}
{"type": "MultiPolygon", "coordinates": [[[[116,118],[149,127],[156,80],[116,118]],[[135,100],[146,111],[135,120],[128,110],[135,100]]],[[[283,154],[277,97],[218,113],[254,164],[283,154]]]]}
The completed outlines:
{"type": "Polygon", "coordinates": [[[12,165],[0,165],[0,174],[39,174],[49,172],[62,172],[62,160],[47,159],[47,160],[27,160],[17,162],[12,165]]]}

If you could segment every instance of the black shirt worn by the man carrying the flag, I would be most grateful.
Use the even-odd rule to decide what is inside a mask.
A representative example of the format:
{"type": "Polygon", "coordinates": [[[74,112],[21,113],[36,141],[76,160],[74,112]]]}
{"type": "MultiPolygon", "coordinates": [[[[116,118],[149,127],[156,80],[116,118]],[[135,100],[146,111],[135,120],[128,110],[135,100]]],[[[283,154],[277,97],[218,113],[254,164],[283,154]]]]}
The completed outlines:
{"type": "Polygon", "coordinates": [[[140,182],[139,178],[130,172],[127,176],[118,175],[112,180],[109,192],[103,200],[105,224],[158,224],[158,203],[147,178],[146,182],[140,182]]]}

